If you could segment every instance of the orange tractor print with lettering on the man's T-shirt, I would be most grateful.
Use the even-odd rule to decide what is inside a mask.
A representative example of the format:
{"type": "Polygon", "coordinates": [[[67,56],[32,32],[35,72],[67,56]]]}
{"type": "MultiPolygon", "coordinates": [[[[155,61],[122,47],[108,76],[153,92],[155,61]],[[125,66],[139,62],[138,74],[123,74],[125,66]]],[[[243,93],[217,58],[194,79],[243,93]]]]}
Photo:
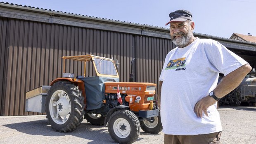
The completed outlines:
{"type": "Polygon", "coordinates": [[[170,69],[175,69],[177,68],[175,71],[178,70],[185,70],[185,63],[186,63],[186,58],[178,58],[175,60],[170,60],[165,68],[165,70],[170,70],[170,69]]]}

